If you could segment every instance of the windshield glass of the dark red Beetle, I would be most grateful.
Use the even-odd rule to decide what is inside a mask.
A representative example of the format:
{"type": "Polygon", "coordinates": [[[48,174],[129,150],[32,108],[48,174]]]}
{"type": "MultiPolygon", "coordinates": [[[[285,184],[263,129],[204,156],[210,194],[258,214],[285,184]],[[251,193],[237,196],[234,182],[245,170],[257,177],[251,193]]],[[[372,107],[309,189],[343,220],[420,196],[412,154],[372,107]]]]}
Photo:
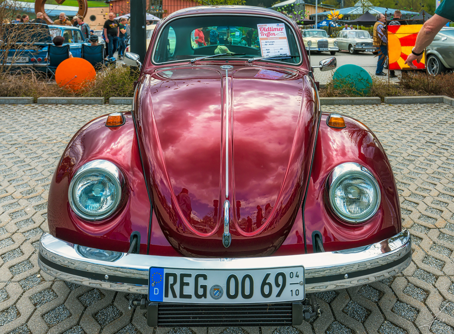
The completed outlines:
{"type": "MultiPolygon", "coordinates": [[[[153,55],[155,63],[190,60],[222,53],[226,53],[225,58],[229,59],[249,59],[280,54],[281,49],[288,50],[282,54],[292,54],[298,57],[267,59],[266,61],[298,64],[301,59],[299,57],[300,48],[293,30],[282,21],[265,17],[196,16],[175,19],[161,30],[158,43],[155,45],[157,45],[153,55]],[[281,48],[276,43],[271,50],[273,53],[262,54],[265,44],[262,43],[261,48],[257,24],[283,24],[286,37],[279,40],[280,43],[283,41],[286,45],[281,48]],[[228,53],[245,54],[229,56],[228,53]]],[[[207,61],[219,58],[224,57],[209,58],[207,61]]]]}

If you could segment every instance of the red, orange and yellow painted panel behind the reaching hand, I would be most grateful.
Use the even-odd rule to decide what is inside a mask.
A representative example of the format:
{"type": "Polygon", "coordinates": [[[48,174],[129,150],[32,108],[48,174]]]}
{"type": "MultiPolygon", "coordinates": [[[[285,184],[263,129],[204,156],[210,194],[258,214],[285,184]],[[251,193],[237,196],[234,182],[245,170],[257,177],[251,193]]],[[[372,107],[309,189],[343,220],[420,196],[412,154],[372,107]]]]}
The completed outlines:
{"type": "MultiPolygon", "coordinates": [[[[404,64],[411,49],[415,46],[416,36],[422,24],[402,24],[388,26],[388,57],[390,70],[410,69],[404,64]]],[[[425,55],[421,63],[414,62],[417,68],[425,68],[425,55]]]]}

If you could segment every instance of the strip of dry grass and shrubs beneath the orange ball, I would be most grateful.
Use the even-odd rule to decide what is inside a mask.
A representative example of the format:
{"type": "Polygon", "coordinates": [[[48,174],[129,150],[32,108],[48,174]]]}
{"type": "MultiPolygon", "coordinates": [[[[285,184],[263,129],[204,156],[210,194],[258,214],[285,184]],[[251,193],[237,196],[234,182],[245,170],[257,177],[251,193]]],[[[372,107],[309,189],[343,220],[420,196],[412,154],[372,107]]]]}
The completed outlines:
{"type": "Polygon", "coordinates": [[[107,67],[99,71],[96,79],[84,89],[73,92],[60,88],[56,83],[47,83],[35,73],[22,75],[0,75],[0,96],[2,97],[132,97],[133,82],[138,71],[128,67],[107,67]]]}

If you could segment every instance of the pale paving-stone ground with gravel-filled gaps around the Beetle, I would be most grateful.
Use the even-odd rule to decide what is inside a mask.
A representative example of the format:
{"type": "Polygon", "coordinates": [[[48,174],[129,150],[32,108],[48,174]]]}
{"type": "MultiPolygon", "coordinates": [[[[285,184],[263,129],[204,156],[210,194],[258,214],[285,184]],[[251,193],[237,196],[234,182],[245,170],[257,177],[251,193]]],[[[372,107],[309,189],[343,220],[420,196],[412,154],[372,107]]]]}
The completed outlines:
{"type": "Polygon", "coordinates": [[[391,160],[413,261],[400,275],[317,294],[320,318],[297,327],[153,329],[132,295],[56,281],[39,271],[49,179],[86,121],[127,106],[0,106],[0,334],[454,333],[454,108],[324,106],[370,126],[391,160]],[[434,318],[435,317],[435,318],[434,318]],[[433,321],[436,319],[436,321],[433,321]]]}

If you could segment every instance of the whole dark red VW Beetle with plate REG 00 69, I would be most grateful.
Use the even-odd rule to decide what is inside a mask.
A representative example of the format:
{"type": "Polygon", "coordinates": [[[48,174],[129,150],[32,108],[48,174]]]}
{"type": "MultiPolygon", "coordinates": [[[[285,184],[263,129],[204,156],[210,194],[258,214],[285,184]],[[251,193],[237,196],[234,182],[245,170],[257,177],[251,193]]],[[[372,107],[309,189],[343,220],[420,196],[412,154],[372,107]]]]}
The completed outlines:
{"type": "Polygon", "coordinates": [[[131,305],[148,324],[173,327],[301,324],[320,313],[314,292],[405,269],[385,151],[361,122],[321,111],[312,71],[276,11],[161,20],[132,111],[87,123],[59,161],[39,266],[142,294],[131,305]]]}

